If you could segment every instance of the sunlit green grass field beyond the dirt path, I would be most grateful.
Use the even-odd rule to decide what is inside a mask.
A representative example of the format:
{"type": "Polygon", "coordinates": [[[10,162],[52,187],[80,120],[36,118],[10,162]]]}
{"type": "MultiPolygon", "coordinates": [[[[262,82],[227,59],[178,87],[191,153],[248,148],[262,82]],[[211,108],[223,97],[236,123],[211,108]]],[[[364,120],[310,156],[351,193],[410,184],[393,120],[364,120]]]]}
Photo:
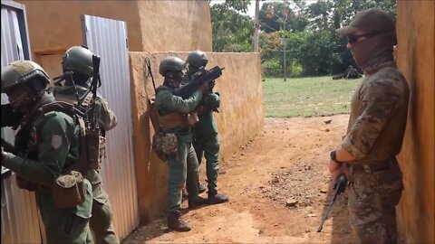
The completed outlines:
{"type": "Polygon", "coordinates": [[[331,76],[263,81],[266,117],[318,117],[347,114],[360,80],[331,76]]]}

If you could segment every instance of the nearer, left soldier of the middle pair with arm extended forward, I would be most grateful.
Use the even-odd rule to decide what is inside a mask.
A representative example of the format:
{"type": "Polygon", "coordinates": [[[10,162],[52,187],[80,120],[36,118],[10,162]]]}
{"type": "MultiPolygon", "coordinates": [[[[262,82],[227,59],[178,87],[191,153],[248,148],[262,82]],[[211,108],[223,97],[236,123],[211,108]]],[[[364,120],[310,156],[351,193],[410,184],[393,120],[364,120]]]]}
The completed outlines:
{"type": "MultiPolygon", "coordinates": [[[[157,89],[156,107],[160,116],[173,113],[187,114],[197,108],[203,93],[209,90],[208,84],[200,87],[189,99],[182,99],[173,94],[179,89],[183,77],[184,61],[169,56],[160,62],[160,74],[164,77],[163,86],[157,89]]],[[[177,122],[177,121],[175,121],[177,122]]],[[[169,183],[168,183],[168,227],[171,230],[189,231],[186,221],[180,219],[181,190],[186,183],[189,193],[189,208],[197,207],[206,202],[198,196],[198,159],[192,146],[191,127],[172,127],[167,133],[174,133],[178,140],[178,152],[169,155],[169,183]]]]}

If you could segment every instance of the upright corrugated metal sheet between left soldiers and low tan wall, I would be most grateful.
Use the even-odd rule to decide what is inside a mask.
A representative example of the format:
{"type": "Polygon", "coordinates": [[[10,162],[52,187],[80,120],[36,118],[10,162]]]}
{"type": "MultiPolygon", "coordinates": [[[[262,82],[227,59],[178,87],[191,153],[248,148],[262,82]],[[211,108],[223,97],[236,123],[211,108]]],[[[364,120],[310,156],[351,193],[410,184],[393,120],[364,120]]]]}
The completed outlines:
{"type": "Polygon", "coordinates": [[[102,183],[109,194],[114,227],[120,239],[139,225],[138,195],[132,145],[130,69],[127,24],[102,17],[82,16],[83,37],[92,52],[100,55],[102,93],[118,118],[107,133],[107,158],[102,183]]]}

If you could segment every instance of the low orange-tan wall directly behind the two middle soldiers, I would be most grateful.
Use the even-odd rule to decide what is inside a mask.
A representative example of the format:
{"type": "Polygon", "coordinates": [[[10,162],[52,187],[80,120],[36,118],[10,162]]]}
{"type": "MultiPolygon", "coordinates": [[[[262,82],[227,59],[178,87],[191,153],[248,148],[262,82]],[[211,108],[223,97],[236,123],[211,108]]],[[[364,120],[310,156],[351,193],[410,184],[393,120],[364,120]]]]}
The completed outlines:
{"type": "MultiPolygon", "coordinates": [[[[150,58],[156,86],[159,86],[163,81],[158,72],[159,63],[167,55],[167,52],[131,52],[130,55],[134,144],[142,221],[154,220],[158,214],[166,211],[168,169],[150,148],[154,130],[147,114],[147,101],[154,95],[154,89],[148,71],[144,70],[144,59],[150,58]]],[[[187,52],[178,52],[176,55],[185,60],[187,52]]],[[[208,68],[215,65],[225,67],[215,87],[222,99],[220,113],[215,113],[215,117],[221,158],[224,161],[264,125],[260,59],[258,53],[208,53],[208,60],[208,68]]]]}

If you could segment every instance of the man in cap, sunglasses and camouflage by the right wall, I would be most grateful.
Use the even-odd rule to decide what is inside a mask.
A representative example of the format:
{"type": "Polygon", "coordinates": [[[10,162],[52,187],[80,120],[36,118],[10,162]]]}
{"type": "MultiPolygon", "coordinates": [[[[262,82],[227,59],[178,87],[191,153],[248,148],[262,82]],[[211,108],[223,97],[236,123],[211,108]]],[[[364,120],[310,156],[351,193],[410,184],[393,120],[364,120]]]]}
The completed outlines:
{"type": "Polygon", "coordinates": [[[365,73],[352,99],[342,146],[329,169],[333,180],[348,174],[350,223],[364,243],[396,243],[395,206],[403,189],[396,155],[406,127],[410,89],[393,61],[394,22],[389,14],[369,9],[337,32],[365,73]],[[346,164],[341,164],[346,163],[346,164]]]}

